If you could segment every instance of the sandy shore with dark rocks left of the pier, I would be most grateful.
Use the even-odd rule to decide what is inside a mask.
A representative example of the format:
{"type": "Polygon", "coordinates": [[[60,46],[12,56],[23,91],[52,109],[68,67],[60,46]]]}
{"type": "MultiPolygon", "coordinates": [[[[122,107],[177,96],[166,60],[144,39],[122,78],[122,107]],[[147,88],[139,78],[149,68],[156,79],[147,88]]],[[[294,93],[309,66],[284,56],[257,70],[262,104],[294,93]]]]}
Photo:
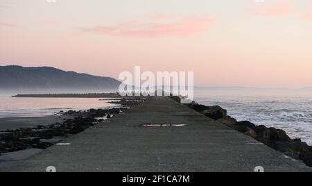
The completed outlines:
{"type": "Polygon", "coordinates": [[[37,151],[62,142],[71,135],[107,122],[114,115],[142,101],[136,98],[119,99],[119,101],[114,100],[114,103],[119,105],[118,107],[69,110],[60,112],[59,116],[0,118],[0,163],[6,160],[26,159],[35,155],[37,151]]]}

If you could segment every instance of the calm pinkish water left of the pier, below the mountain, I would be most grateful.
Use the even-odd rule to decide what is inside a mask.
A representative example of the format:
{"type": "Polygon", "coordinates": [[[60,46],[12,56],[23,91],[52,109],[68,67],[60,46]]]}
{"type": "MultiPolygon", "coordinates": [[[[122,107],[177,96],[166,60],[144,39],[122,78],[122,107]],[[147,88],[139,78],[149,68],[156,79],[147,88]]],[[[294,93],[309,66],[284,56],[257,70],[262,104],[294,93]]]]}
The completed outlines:
{"type": "Polygon", "coordinates": [[[116,105],[96,98],[12,98],[0,96],[0,118],[43,117],[61,110],[88,110],[89,108],[110,108],[116,105]]]}

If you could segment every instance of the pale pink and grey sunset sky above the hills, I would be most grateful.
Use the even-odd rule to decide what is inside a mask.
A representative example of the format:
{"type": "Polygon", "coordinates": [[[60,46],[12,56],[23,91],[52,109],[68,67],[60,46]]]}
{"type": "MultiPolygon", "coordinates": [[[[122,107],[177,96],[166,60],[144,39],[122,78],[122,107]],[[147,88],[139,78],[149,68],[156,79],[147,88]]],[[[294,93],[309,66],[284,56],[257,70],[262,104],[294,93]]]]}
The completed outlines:
{"type": "Polygon", "coordinates": [[[0,65],[311,87],[311,0],[0,0],[0,65]]]}

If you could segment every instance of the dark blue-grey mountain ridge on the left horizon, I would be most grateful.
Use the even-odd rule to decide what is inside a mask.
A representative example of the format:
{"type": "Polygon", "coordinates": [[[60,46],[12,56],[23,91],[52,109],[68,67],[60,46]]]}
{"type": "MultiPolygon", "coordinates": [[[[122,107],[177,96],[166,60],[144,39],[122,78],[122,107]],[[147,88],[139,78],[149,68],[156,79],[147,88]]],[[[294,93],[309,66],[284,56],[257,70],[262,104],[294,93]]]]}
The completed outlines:
{"type": "Polygon", "coordinates": [[[75,71],[64,71],[55,67],[0,66],[2,91],[20,92],[51,90],[104,91],[117,90],[120,81],[114,78],[94,76],[75,71]]]}

